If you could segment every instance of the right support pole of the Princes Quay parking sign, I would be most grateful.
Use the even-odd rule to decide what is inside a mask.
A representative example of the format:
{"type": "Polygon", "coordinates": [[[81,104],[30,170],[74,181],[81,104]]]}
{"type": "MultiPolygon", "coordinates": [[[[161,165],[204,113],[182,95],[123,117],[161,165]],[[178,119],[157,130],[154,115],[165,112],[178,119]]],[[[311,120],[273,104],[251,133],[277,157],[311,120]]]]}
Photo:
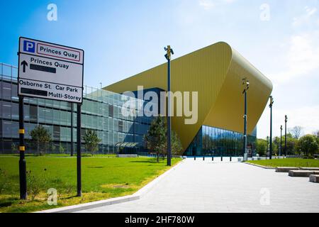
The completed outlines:
{"type": "Polygon", "coordinates": [[[81,104],[77,104],[77,196],[82,196],[82,184],[81,184],[81,104]]]}

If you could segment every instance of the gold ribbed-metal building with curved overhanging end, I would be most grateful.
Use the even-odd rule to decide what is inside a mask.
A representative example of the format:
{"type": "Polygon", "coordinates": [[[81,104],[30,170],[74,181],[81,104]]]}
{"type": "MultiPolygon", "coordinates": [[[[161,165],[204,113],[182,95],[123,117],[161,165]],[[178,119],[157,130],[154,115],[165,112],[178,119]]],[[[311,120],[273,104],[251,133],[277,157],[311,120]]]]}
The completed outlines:
{"type": "MultiPolygon", "coordinates": [[[[227,43],[220,42],[172,60],[171,64],[172,92],[198,92],[198,121],[195,124],[185,124],[185,116],[172,117],[172,130],[179,135],[184,150],[189,148],[192,142],[194,143],[202,126],[219,128],[222,133],[243,133],[242,79],[245,77],[250,80],[250,89],[247,92],[247,133],[254,133],[254,128],[272,93],[272,82],[240,53],[227,43]]],[[[167,90],[167,63],[123,79],[104,89],[123,93],[136,91],[138,86],[143,86],[144,89],[167,90]]],[[[218,145],[217,142],[213,144],[215,134],[210,133],[207,127],[206,131],[201,133],[201,150],[207,143],[207,148],[210,148],[206,149],[206,152],[223,150],[222,148],[227,152],[228,145],[218,145]],[[203,137],[206,134],[209,135],[208,139],[203,137]]],[[[220,136],[221,139],[224,135],[216,136],[220,136]]],[[[224,137],[228,140],[223,140],[223,143],[232,143],[231,146],[234,147],[232,149],[242,149],[235,145],[237,137],[224,137]]],[[[198,152],[203,154],[201,151],[195,154],[198,152]]]]}

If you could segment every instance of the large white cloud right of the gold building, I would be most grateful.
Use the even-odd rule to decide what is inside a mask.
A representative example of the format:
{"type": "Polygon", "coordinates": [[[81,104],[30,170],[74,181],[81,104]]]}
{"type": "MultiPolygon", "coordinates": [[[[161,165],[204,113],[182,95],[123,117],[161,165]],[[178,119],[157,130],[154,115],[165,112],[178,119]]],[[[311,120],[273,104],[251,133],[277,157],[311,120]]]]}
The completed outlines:
{"type": "MultiPolygon", "coordinates": [[[[276,72],[267,74],[274,83],[275,105],[273,109],[273,135],[280,135],[284,116],[288,115],[288,128],[302,126],[303,134],[319,129],[318,84],[315,80],[319,70],[319,16],[317,8],[306,6],[301,16],[293,18],[292,34],[281,43],[274,57],[276,72]],[[313,96],[314,95],[314,96],[313,96]],[[286,99],[286,100],[284,100],[286,99]],[[295,101],[295,102],[293,102],[295,101]]],[[[269,108],[266,107],[258,123],[258,138],[269,135],[269,108]]],[[[284,134],[284,131],[283,131],[284,134]]]]}

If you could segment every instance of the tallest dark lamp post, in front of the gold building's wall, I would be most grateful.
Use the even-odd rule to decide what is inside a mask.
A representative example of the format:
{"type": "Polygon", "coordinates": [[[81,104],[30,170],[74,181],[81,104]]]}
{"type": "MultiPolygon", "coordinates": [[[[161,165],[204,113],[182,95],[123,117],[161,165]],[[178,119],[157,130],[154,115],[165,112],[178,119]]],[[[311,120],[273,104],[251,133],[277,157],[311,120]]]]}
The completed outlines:
{"type": "Polygon", "coordinates": [[[167,59],[167,165],[171,166],[172,147],[171,147],[171,55],[174,51],[170,45],[167,45],[165,58],[167,59]]]}

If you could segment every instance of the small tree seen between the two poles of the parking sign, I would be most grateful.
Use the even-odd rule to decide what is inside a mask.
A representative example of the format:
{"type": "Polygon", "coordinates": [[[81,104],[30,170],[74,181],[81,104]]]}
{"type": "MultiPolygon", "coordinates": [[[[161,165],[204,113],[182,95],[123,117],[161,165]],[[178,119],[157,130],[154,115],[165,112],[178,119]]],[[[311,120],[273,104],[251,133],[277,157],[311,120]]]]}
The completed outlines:
{"type": "Polygon", "coordinates": [[[51,133],[43,126],[37,126],[30,131],[31,140],[37,148],[37,153],[43,155],[47,145],[52,141],[51,133]]]}

